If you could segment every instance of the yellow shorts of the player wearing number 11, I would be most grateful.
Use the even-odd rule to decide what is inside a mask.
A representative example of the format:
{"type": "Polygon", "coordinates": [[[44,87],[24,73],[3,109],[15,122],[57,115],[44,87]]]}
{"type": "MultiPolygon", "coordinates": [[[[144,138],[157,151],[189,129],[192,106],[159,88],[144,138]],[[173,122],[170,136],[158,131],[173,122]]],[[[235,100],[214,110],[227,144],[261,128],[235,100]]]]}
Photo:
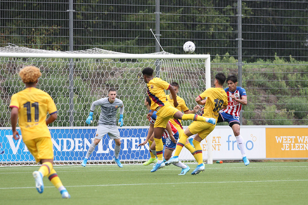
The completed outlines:
{"type": "Polygon", "coordinates": [[[34,156],[36,162],[42,159],[53,159],[52,141],[49,137],[39,137],[25,141],[30,153],[34,156]]]}

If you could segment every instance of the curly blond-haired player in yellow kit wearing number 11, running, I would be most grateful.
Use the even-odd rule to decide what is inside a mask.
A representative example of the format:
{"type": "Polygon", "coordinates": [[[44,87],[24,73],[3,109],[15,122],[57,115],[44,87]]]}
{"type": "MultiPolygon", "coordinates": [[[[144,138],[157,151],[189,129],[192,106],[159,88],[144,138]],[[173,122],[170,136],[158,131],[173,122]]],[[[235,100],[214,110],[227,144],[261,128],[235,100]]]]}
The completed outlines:
{"type": "Polygon", "coordinates": [[[15,93],[11,97],[11,123],[13,138],[19,139],[16,130],[17,119],[22,139],[36,162],[41,162],[38,171],[33,172],[36,189],[43,193],[43,177],[47,176],[52,184],[58,188],[62,198],[70,198],[69,192],[63,186],[57,172],[53,169],[53,149],[51,134],[47,127],[57,119],[57,108],[47,92],[36,88],[41,72],[37,67],[26,66],[19,72],[26,89],[15,93]],[[49,117],[46,119],[47,112],[49,117]]]}

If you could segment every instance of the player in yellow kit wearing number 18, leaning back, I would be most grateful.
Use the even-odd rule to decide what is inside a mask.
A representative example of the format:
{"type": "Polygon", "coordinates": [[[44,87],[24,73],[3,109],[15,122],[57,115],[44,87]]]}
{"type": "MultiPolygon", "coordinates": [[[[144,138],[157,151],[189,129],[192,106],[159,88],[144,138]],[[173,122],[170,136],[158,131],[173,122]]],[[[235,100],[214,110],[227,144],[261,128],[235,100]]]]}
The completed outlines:
{"type": "MultiPolygon", "coordinates": [[[[223,84],[226,81],[226,76],[223,73],[217,73],[215,76],[214,85],[202,92],[196,97],[196,102],[200,105],[205,105],[203,109],[203,117],[212,117],[217,121],[218,112],[220,109],[227,108],[228,98],[223,89],[223,84]]],[[[205,139],[208,134],[212,132],[216,124],[210,124],[206,122],[193,122],[181,135],[178,144],[176,145],[174,156],[166,162],[167,165],[179,162],[179,154],[186,142],[187,138],[193,134],[197,134],[194,137],[193,144],[195,145],[197,155],[197,168],[191,172],[191,174],[198,174],[205,170],[202,157],[202,148],[200,145],[201,140],[205,139]]]]}

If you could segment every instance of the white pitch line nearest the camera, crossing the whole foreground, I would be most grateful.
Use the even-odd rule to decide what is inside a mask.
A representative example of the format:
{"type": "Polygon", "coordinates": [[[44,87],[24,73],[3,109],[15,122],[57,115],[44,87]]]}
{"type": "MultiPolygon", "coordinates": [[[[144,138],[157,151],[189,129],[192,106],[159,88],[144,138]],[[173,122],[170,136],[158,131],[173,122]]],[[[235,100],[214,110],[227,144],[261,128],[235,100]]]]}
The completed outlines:
{"type": "MultiPolygon", "coordinates": [[[[107,187],[107,186],[134,186],[134,185],[166,185],[166,184],[207,184],[207,183],[245,183],[245,182],[280,182],[280,181],[308,181],[308,179],[295,179],[295,180],[264,180],[264,181],[199,181],[199,182],[174,182],[174,183],[143,183],[143,184],[99,184],[99,185],[75,185],[65,187],[107,187]]],[[[28,189],[35,187],[3,187],[0,189],[28,189]]],[[[54,188],[54,187],[44,187],[54,188]]]]}

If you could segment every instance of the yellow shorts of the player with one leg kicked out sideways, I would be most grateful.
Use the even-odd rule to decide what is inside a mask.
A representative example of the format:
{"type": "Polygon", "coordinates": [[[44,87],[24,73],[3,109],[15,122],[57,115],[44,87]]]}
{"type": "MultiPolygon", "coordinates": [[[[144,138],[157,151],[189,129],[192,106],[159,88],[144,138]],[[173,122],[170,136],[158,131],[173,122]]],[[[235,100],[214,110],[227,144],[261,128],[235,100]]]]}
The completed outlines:
{"type": "Polygon", "coordinates": [[[166,128],[169,119],[172,118],[176,112],[179,112],[179,110],[171,105],[160,107],[157,111],[157,118],[154,127],[166,128]]]}

